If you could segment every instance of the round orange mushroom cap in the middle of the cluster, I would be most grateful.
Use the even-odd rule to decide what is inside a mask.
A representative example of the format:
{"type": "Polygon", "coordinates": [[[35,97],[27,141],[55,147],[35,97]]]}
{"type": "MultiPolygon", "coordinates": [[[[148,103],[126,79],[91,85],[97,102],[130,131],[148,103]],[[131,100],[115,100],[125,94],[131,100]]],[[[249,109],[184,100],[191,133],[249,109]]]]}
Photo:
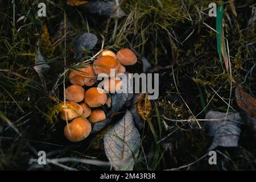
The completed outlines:
{"type": "Polygon", "coordinates": [[[92,87],[84,94],[84,102],[90,107],[100,107],[106,103],[106,100],[106,93],[101,88],[92,87]]]}

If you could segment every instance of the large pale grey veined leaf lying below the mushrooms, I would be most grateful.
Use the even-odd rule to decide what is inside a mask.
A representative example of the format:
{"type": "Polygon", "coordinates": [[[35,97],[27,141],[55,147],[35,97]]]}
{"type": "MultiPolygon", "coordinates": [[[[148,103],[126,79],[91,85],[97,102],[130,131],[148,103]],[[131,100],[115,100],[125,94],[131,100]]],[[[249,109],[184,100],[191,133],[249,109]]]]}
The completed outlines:
{"type": "Polygon", "coordinates": [[[140,146],[141,136],[134,125],[133,115],[127,110],[125,116],[105,134],[105,154],[115,170],[131,171],[140,146]]]}

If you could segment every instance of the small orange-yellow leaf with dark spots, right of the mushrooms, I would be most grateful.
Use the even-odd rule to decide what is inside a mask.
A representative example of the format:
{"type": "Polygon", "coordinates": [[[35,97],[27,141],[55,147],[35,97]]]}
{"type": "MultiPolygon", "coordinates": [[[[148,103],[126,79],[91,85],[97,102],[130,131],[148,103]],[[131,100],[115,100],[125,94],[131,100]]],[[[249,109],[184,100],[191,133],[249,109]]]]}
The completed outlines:
{"type": "Polygon", "coordinates": [[[146,121],[152,110],[151,102],[146,98],[146,94],[142,94],[139,98],[137,107],[139,115],[146,121]]]}

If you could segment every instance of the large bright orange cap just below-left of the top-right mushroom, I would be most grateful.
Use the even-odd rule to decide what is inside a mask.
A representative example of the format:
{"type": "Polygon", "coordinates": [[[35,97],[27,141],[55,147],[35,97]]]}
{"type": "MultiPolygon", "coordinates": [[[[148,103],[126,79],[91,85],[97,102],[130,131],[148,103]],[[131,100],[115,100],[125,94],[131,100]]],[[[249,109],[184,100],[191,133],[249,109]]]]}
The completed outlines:
{"type": "MultiPolygon", "coordinates": [[[[109,77],[111,69],[114,69],[115,75],[119,73],[119,65],[120,63],[114,59],[112,56],[101,56],[98,57],[93,63],[93,68],[95,72],[99,75],[100,73],[105,73],[109,77]]],[[[114,76],[115,76],[114,75],[114,76]]]]}

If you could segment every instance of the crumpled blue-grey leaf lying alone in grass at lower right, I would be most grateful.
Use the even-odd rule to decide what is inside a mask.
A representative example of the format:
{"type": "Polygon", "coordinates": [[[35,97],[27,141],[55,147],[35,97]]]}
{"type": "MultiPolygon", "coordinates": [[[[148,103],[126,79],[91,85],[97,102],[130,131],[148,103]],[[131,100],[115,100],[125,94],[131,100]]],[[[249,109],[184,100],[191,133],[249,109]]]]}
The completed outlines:
{"type": "Polygon", "coordinates": [[[237,147],[240,136],[240,125],[243,123],[242,118],[238,113],[226,115],[218,111],[209,111],[205,116],[204,126],[207,135],[213,137],[212,145],[209,151],[214,148],[221,147],[237,147]],[[212,119],[216,119],[213,121],[212,119]]]}

